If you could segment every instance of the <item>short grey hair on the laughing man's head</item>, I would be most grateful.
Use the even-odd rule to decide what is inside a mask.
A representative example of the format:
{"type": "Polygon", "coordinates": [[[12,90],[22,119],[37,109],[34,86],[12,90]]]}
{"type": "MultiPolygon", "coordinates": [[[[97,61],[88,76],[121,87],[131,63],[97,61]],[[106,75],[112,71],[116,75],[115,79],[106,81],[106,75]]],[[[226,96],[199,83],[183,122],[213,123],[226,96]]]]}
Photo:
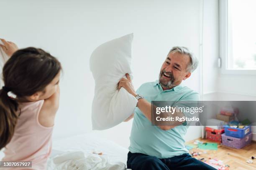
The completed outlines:
{"type": "Polygon", "coordinates": [[[175,53],[175,52],[179,52],[180,54],[185,54],[188,55],[190,57],[190,62],[187,65],[187,71],[188,72],[193,72],[195,71],[195,69],[198,66],[198,59],[197,57],[195,57],[187,47],[180,47],[180,46],[176,46],[176,47],[172,47],[172,49],[170,50],[170,52],[168,53],[168,55],[170,53],[175,53]]]}

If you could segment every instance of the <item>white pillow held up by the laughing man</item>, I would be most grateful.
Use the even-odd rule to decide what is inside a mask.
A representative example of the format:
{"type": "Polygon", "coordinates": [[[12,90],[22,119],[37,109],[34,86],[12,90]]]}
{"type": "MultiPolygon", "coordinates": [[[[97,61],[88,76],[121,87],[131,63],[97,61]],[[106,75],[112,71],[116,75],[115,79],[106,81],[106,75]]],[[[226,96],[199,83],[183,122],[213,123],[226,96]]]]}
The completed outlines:
{"type": "Polygon", "coordinates": [[[97,47],[90,58],[90,70],[95,80],[92,102],[92,129],[105,130],[128,118],[137,105],[136,98],[119,80],[131,74],[131,42],[133,34],[105,42],[97,47]]]}

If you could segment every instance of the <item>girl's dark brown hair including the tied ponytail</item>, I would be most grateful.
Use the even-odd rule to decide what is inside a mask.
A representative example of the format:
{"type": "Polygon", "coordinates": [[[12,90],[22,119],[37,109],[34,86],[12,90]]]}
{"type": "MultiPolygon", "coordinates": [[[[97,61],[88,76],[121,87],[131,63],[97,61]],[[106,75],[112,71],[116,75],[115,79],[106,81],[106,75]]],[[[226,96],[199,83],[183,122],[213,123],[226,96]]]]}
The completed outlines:
{"type": "MultiPolygon", "coordinates": [[[[61,63],[42,49],[28,47],[16,51],[3,67],[5,87],[17,97],[31,96],[45,87],[61,70],[61,63]]],[[[18,120],[18,102],[0,90],[0,150],[13,137],[18,120]]]]}

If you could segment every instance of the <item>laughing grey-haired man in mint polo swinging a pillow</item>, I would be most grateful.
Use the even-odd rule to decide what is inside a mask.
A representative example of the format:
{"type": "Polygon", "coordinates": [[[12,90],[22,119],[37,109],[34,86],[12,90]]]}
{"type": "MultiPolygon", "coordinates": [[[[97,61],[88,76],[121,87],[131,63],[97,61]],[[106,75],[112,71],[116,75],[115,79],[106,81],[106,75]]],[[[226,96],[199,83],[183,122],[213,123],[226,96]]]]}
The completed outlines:
{"type": "MultiPolygon", "coordinates": [[[[154,126],[151,123],[151,101],[169,101],[182,106],[181,101],[198,101],[199,94],[180,85],[190,77],[198,60],[186,47],[173,47],[167,55],[159,80],[146,82],[137,91],[131,79],[122,78],[118,88],[124,87],[138,99],[134,114],[127,168],[132,170],[215,170],[210,165],[192,158],[184,147],[186,122],[176,125],[154,126]],[[180,103],[179,103],[180,102],[180,103]]],[[[186,113],[182,113],[186,115],[186,113]]]]}

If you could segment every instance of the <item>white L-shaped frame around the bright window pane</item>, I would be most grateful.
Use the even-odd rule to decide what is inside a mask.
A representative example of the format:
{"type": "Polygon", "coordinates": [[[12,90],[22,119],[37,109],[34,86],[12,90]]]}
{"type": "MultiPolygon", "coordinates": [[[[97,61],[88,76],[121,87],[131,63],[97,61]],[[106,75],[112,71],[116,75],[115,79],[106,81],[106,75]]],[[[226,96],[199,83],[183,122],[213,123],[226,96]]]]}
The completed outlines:
{"type": "Polygon", "coordinates": [[[219,42],[221,74],[256,75],[256,70],[228,69],[228,0],[219,0],[219,42]]]}

